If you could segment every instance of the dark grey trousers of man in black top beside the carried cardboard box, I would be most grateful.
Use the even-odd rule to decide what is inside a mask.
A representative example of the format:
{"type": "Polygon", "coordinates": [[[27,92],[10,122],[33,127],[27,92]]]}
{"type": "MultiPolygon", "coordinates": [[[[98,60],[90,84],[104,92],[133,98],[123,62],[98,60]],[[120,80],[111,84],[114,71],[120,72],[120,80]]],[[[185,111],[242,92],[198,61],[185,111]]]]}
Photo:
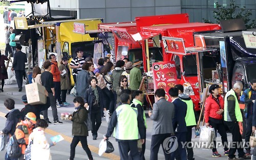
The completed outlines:
{"type": "MultiPolygon", "coordinates": [[[[56,99],[55,97],[53,96],[52,93],[48,93],[48,96],[50,98],[50,104],[51,104],[51,108],[52,108],[52,116],[53,116],[53,120],[54,121],[58,121],[59,118],[58,118],[58,111],[57,111],[57,107],[56,107],[56,99]]],[[[49,118],[48,118],[48,109],[42,111],[42,115],[44,115],[44,119],[46,121],[49,121],[49,118]]]]}

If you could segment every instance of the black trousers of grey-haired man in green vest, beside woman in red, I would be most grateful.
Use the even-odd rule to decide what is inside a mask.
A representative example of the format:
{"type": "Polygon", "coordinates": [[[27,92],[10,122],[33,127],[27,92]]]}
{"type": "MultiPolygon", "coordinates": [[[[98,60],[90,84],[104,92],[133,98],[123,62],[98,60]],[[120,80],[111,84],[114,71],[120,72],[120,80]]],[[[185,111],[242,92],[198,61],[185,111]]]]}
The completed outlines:
{"type": "Polygon", "coordinates": [[[238,144],[237,143],[242,143],[242,136],[240,134],[240,129],[239,129],[239,125],[238,122],[227,122],[224,121],[225,125],[228,126],[230,132],[232,133],[232,142],[230,144],[230,146],[232,145],[232,147],[230,147],[229,149],[229,154],[228,157],[229,158],[234,158],[236,157],[235,153],[238,150],[238,157],[242,157],[245,155],[244,149],[243,147],[238,148],[238,144]]]}

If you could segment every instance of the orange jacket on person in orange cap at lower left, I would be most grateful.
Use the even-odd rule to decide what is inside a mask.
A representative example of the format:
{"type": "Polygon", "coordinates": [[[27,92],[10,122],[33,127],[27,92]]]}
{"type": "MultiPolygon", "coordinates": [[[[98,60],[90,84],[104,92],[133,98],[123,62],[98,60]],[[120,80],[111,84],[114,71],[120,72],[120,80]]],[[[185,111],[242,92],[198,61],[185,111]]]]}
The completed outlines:
{"type": "Polygon", "coordinates": [[[20,144],[19,147],[22,148],[22,154],[25,154],[25,149],[29,144],[29,134],[32,133],[32,131],[33,127],[29,128],[28,124],[25,124],[24,121],[20,121],[19,123],[17,123],[14,134],[18,143],[20,144]],[[28,134],[24,133],[23,126],[26,126],[28,128],[28,134]]]}

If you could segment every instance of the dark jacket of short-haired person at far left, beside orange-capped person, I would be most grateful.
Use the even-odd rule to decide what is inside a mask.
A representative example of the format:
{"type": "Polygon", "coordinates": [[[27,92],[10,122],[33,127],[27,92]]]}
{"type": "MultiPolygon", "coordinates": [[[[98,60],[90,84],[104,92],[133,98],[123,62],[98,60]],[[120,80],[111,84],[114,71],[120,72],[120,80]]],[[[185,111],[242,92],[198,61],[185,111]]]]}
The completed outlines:
{"type": "Polygon", "coordinates": [[[20,120],[23,120],[24,117],[22,113],[18,109],[13,109],[7,113],[5,116],[7,118],[5,123],[5,128],[3,129],[3,133],[13,135],[16,130],[16,125],[20,120]]]}

